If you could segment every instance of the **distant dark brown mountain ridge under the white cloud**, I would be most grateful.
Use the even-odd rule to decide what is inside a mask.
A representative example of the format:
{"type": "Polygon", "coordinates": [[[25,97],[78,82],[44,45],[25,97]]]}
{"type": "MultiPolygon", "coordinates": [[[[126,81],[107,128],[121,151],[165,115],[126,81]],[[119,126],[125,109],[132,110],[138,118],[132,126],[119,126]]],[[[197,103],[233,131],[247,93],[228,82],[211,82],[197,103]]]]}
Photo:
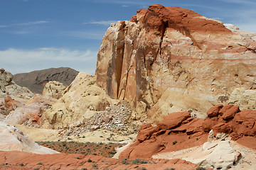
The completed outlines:
{"type": "Polygon", "coordinates": [[[34,93],[41,94],[48,81],[59,81],[68,86],[78,75],[78,71],[69,67],[42,69],[28,73],[14,74],[19,86],[26,86],[34,93]]]}

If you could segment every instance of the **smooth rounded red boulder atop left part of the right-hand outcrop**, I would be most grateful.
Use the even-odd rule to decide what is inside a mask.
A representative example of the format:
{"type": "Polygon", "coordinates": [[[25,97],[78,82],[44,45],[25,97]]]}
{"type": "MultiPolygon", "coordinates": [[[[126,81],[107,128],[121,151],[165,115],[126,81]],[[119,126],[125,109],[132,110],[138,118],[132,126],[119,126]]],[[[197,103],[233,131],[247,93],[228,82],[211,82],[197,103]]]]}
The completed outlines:
{"type": "Polygon", "coordinates": [[[180,125],[184,120],[190,118],[191,115],[188,112],[176,112],[167,115],[164,120],[158,123],[159,128],[168,130],[180,125]]]}

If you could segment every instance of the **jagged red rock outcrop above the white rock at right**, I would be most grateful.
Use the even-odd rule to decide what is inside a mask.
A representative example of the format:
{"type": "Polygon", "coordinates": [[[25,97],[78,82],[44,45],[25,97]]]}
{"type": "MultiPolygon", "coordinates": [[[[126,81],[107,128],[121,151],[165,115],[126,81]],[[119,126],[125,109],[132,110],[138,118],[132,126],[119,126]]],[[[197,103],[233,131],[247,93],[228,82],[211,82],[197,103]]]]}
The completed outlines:
{"type": "MultiPolygon", "coordinates": [[[[210,130],[215,136],[229,134],[242,145],[245,143],[242,139],[248,136],[252,137],[252,141],[256,140],[255,110],[240,111],[239,106],[217,105],[207,113],[206,118],[191,118],[186,112],[171,113],[154,127],[149,123],[142,125],[137,141],[119,154],[119,159],[150,159],[155,154],[203,145],[210,130]],[[232,116],[227,119],[226,115],[232,116]]],[[[255,149],[255,145],[245,146],[255,149]]]]}

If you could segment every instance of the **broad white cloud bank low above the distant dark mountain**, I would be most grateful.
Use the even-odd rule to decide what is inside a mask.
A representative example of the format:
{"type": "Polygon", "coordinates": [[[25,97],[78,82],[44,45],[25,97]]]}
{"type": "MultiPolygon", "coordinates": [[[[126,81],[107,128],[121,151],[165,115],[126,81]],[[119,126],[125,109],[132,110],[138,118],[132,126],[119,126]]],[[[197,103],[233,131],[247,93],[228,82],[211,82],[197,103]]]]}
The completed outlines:
{"type": "Polygon", "coordinates": [[[33,50],[9,48],[0,51],[1,67],[12,74],[51,67],[71,67],[80,72],[95,73],[97,51],[42,47],[33,50]]]}

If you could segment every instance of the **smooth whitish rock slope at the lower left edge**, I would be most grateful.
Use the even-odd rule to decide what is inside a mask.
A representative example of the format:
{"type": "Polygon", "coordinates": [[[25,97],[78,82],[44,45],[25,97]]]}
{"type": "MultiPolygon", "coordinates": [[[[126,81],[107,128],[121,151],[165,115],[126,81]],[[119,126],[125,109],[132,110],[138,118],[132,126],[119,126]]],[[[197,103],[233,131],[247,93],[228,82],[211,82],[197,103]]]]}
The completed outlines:
{"type": "Polygon", "coordinates": [[[0,122],[0,151],[22,151],[35,154],[56,154],[58,152],[42,147],[30,140],[18,128],[0,122]]]}

